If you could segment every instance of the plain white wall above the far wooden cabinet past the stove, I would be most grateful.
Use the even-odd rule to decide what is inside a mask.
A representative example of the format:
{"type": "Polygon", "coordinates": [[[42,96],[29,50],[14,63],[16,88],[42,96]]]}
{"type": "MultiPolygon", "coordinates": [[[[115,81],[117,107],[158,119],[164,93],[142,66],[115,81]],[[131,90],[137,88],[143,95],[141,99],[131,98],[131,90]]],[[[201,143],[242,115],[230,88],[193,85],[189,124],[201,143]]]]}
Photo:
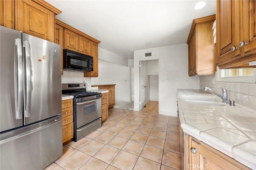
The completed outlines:
{"type": "Polygon", "coordinates": [[[112,63],[98,63],[99,75],[91,84],[116,84],[116,100],[130,102],[130,68],[112,63]]]}

